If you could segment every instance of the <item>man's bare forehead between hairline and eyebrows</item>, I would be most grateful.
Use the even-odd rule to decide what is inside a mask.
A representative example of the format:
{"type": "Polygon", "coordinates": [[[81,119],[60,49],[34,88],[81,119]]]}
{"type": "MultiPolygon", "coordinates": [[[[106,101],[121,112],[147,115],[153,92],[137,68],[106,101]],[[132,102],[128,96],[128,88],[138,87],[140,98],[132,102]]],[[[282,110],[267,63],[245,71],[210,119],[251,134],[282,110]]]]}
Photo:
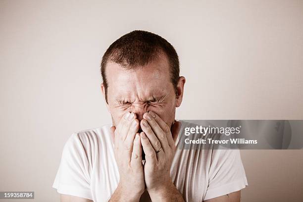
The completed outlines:
{"type": "Polygon", "coordinates": [[[108,93],[115,95],[160,94],[169,90],[170,68],[165,56],[159,55],[158,59],[145,66],[134,69],[123,68],[117,63],[108,62],[106,65],[106,80],[108,93]]]}

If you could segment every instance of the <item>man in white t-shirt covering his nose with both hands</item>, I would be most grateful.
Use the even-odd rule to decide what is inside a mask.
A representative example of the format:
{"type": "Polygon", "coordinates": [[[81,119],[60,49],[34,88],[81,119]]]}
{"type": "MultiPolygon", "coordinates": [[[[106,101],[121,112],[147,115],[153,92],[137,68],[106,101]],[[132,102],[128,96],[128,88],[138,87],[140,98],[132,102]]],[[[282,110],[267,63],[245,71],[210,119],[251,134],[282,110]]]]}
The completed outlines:
{"type": "Polygon", "coordinates": [[[122,36],[104,53],[101,75],[112,126],[67,141],[53,184],[62,202],[240,201],[247,181],[239,151],[176,149],[187,124],[175,120],[185,78],[165,39],[122,36]]]}

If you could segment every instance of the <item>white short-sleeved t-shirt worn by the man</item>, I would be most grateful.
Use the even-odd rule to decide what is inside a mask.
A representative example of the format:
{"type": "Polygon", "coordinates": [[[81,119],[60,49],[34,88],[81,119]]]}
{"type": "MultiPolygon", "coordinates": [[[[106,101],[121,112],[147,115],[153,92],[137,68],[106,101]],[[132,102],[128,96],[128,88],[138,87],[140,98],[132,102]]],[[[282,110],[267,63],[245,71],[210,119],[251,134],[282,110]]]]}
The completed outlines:
{"type": "MultiPolygon", "coordinates": [[[[188,123],[181,123],[184,131],[188,123]]],[[[52,185],[58,193],[94,202],[110,199],[119,183],[110,126],[74,133],[68,139],[52,185]]],[[[186,202],[202,202],[248,185],[239,150],[177,147],[170,176],[186,202]]]]}

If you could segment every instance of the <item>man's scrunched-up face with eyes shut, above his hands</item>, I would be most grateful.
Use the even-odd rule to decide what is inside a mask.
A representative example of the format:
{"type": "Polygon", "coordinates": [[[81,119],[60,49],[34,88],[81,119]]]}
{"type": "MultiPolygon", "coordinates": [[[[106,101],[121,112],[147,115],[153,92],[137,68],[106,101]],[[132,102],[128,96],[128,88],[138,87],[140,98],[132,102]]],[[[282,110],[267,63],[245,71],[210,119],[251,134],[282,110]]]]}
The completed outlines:
{"type": "Polygon", "coordinates": [[[126,111],[134,112],[139,121],[145,112],[153,111],[171,127],[176,107],[181,101],[176,97],[169,70],[168,61],[163,54],[154,62],[136,69],[126,69],[117,63],[108,62],[107,108],[113,125],[119,123],[126,111]]]}

